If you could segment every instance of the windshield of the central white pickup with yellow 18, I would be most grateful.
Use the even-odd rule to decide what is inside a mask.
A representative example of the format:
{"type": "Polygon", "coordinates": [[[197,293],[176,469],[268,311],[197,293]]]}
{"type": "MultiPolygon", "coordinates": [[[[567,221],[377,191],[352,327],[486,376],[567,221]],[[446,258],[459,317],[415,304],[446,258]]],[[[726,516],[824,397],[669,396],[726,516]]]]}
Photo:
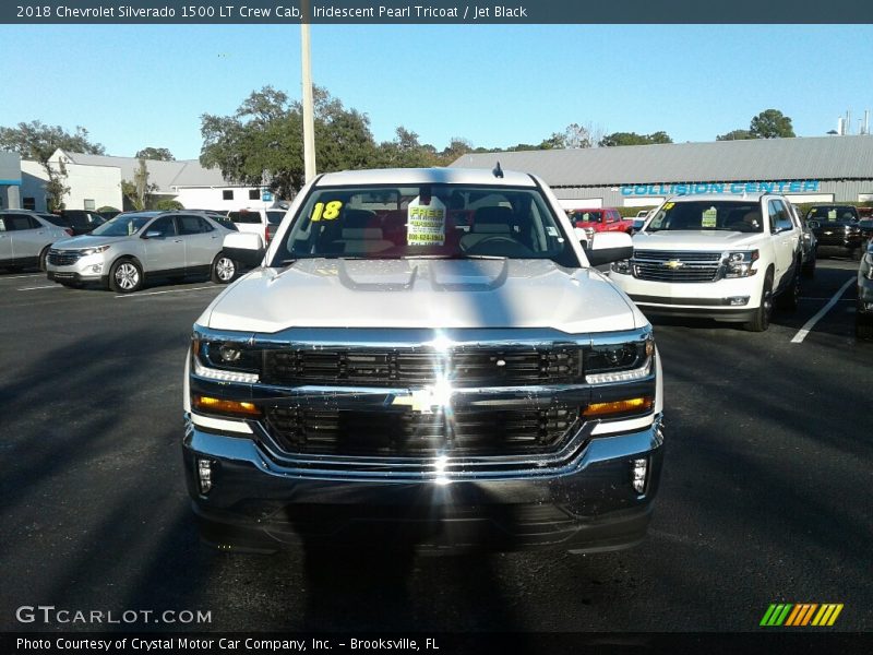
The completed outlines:
{"type": "Polygon", "coordinates": [[[276,264],[315,257],[494,257],[579,265],[538,189],[461,184],[315,189],[276,264]]]}

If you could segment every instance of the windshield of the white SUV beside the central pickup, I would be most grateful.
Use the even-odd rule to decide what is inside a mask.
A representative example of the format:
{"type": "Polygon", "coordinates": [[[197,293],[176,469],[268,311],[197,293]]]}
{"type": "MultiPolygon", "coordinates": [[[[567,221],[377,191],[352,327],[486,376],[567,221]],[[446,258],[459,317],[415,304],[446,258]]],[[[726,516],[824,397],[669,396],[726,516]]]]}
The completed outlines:
{"type": "Polygon", "coordinates": [[[646,231],[725,230],[764,231],[757,202],[668,202],[651,218],[646,231]]]}

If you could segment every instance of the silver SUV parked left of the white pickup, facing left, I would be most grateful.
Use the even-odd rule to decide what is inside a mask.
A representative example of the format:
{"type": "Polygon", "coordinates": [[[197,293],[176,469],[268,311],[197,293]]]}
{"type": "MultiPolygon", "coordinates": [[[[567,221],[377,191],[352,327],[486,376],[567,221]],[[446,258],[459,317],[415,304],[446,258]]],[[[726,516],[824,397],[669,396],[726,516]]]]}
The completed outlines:
{"type": "Polygon", "coordinates": [[[222,248],[232,230],[203,212],[129,212],[89,235],[53,245],[47,274],[64,286],[99,283],[129,294],[152,277],[211,275],[227,284],[237,265],[222,248]]]}

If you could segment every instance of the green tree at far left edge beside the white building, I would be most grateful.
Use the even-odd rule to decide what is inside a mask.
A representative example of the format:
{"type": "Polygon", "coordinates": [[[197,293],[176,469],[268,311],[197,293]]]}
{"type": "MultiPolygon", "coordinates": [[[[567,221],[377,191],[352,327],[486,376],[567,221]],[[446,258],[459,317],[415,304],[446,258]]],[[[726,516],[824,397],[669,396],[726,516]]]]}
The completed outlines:
{"type": "Polygon", "coordinates": [[[91,155],[105,153],[104,146],[93,143],[88,139],[88,131],[81,126],[76,126],[72,134],[60,126],[47,126],[38,120],[20,122],[14,128],[0,128],[0,150],[17,153],[23,159],[38,162],[46,171],[49,211],[63,209],[63,196],[70,192],[65,184],[67,167],[63,163],[49,163],[58,148],[91,155]]]}

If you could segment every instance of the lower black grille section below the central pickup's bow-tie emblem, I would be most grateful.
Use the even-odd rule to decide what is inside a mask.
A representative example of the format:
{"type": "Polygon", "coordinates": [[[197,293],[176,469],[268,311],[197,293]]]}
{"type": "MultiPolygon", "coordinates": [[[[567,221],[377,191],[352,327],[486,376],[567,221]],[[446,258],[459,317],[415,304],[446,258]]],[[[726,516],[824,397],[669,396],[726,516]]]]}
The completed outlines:
{"type": "Polygon", "coordinates": [[[453,409],[422,414],[266,407],[267,430],[288,453],[357,456],[535,454],[574,433],[578,407],[453,409]],[[451,418],[449,418],[451,417],[451,418]]]}

